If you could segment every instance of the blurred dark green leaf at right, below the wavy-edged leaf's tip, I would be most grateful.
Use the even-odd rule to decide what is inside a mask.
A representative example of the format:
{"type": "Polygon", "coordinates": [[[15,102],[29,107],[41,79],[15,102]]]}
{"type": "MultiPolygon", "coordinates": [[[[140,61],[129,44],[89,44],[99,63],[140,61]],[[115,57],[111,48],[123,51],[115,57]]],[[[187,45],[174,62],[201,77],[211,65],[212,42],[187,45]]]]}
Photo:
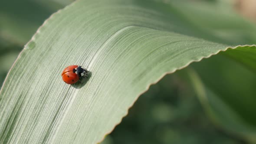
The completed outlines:
{"type": "MultiPolygon", "coordinates": [[[[243,48],[248,50],[248,47],[237,49],[243,48]]],[[[255,49],[255,47],[251,48],[255,49]]],[[[230,52],[233,54],[236,49],[228,50],[223,54],[230,52]]],[[[247,54],[250,55],[249,52],[247,54]]],[[[246,65],[222,55],[193,63],[191,66],[196,71],[193,69],[188,71],[190,80],[210,118],[222,128],[255,143],[256,117],[253,115],[256,110],[253,101],[256,95],[255,72],[244,67],[246,65]]]]}

